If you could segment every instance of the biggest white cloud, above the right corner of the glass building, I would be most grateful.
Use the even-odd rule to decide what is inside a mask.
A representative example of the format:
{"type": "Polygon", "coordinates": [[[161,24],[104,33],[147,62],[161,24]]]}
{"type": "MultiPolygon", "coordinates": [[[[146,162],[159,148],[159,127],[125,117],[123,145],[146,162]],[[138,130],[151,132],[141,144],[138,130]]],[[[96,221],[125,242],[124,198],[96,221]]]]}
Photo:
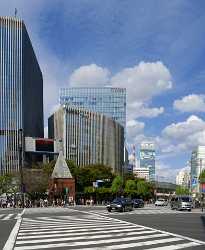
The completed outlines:
{"type": "Polygon", "coordinates": [[[148,101],[172,88],[169,69],[160,61],[140,62],[111,78],[114,87],[126,87],[128,102],[148,101]]]}

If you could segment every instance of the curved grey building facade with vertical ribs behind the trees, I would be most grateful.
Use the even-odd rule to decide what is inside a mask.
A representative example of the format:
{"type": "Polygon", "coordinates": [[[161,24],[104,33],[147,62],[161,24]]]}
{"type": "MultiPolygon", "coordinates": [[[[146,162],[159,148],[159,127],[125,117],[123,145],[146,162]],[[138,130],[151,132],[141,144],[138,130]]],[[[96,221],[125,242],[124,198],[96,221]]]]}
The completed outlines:
{"type": "Polygon", "coordinates": [[[78,166],[100,163],[123,171],[124,128],[103,114],[65,105],[49,117],[48,136],[62,140],[65,158],[78,166]]]}

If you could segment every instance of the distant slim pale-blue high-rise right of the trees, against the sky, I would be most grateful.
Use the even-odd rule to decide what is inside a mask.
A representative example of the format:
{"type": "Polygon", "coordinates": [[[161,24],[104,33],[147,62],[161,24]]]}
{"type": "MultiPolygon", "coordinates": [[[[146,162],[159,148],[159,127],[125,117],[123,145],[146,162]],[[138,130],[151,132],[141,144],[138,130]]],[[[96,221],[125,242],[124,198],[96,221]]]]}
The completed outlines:
{"type": "Polygon", "coordinates": [[[155,181],[155,147],[152,142],[140,145],[140,168],[149,169],[149,180],[155,181]]]}

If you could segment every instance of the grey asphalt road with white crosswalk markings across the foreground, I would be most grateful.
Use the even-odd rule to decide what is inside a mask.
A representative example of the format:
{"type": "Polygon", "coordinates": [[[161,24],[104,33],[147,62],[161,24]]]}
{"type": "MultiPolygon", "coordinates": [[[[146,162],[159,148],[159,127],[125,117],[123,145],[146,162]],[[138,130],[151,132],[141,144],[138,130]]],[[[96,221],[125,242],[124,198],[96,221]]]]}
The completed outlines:
{"type": "Polygon", "coordinates": [[[104,207],[72,207],[26,209],[21,219],[11,214],[0,211],[0,249],[12,240],[9,234],[17,220],[16,250],[205,249],[205,213],[152,207],[108,213],[104,207]]]}

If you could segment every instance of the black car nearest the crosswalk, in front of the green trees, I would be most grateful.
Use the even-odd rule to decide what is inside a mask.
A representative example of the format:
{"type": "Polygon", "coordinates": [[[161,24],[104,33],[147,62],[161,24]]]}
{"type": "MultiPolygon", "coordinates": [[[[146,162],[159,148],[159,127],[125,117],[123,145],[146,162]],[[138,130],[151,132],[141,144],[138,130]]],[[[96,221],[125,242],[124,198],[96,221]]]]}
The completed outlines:
{"type": "Polygon", "coordinates": [[[107,205],[107,211],[112,210],[125,212],[133,210],[133,202],[129,198],[116,198],[110,204],[107,205]]]}

